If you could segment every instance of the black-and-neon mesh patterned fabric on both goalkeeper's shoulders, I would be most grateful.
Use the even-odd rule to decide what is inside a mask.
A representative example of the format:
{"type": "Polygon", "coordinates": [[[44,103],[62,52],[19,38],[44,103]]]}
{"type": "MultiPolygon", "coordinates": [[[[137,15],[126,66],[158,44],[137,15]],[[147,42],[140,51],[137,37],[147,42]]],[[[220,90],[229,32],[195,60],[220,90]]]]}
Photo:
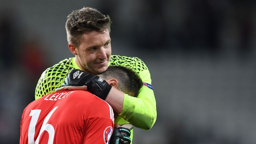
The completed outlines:
{"type": "MultiPolygon", "coordinates": [[[[120,55],[111,55],[109,65],[121,65],[133,69],[137,74],[148,69],[142,60],[137,57],[126,57],[120,55]]],[[[38,80],[35,99],[46,94],[55,92],[54,90],[61,86],[68,73],[74,69],[72,58],[64,59],[58,64],[46,69],[38,80]]]]}

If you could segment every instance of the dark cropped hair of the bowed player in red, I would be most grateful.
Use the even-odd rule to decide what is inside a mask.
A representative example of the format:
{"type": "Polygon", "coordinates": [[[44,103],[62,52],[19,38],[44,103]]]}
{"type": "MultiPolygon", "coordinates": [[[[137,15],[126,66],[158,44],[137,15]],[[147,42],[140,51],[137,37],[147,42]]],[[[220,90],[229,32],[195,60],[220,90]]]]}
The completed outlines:
{"type": "Polygon", "coordinates": [[[123,66],[109,66],[108,69],[99,76],[103,79],[117,79],[117,89],[133,97],[138,96],[140,88],[142,87],[140,77],[131,69],[123,66]]]}

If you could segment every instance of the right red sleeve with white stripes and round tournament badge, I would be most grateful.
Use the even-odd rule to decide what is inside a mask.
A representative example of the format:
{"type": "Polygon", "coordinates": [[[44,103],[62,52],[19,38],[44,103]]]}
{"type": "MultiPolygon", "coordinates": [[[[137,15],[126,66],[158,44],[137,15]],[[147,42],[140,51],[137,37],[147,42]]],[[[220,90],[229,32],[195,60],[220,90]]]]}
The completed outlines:
{"type": "Polygon", "coordinates": [[[111,106],[95,96],[85,113],[85,137],[83,144],[107,144],[114,128],[114,113],[111,106]]]}

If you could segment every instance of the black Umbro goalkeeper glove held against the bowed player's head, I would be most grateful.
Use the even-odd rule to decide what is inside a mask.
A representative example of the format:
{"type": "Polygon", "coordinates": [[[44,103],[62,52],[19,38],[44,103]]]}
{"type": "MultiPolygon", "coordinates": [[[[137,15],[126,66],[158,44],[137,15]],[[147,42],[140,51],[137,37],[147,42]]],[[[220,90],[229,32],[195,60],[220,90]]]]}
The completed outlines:
{"type": "Polygon", "coordinates": [[[65,78],[64,83],[60,86],[87,86],[87,90],[97,97],[105,100],[110,89],[112,88],[104,79],[92,75],[88,72],[73,69],[65,78]]]}

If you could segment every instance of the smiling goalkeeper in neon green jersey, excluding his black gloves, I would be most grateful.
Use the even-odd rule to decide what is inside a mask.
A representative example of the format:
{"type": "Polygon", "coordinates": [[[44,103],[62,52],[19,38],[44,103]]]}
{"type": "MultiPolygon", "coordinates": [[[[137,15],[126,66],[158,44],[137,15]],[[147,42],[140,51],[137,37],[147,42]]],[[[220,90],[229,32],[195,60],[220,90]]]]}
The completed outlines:
{"type": "Polygon", "coordinates": [[[149,130],[157,115],[149,70],[139,58],[111,55],[110,25],[109,16],[94,8],[84,7],[69,14],[66,22],[68,48],[75,57],[62,60],[42,73],[36,86],[35,99],[55,92],[72,69],[95,75],[103,73],[109,65],[126,66],[142,79],[144,86],[138,97],[112,88],[105,101],[119,114],[115,124],[131,123],[149,130]]]}

